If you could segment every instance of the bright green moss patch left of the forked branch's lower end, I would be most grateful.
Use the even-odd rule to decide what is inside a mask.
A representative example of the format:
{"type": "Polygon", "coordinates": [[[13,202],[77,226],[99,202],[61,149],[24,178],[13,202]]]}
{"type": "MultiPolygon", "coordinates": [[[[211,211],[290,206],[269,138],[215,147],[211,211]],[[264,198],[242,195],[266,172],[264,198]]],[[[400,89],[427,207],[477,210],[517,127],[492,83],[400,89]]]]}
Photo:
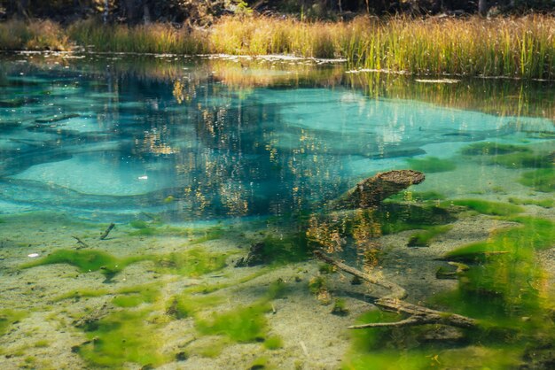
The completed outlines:
{"type": "Polygon", "coordinates": [[[197,320],[196,328],[204,335],[226,335],[238,343],[263,341],[268,332],[270,304],[260,302],[241,306],[221,314],[214,313],[211,320],[197,320]]]}

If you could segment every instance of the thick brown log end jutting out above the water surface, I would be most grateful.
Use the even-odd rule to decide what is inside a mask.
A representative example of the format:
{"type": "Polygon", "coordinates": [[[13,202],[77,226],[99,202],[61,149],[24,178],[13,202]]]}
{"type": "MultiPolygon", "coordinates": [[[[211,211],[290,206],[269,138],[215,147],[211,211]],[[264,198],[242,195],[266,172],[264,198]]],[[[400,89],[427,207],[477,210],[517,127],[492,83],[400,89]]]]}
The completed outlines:
{"type": "Polygon", "coordinates": [[[387,197],[391,197],[410,185],[424,181],[424,173],[413,170],[394,170],[378,173],[356,184],[329,207],[332,210],[348,210],[355,208],[370,208],[380,204],[387,197]]]}

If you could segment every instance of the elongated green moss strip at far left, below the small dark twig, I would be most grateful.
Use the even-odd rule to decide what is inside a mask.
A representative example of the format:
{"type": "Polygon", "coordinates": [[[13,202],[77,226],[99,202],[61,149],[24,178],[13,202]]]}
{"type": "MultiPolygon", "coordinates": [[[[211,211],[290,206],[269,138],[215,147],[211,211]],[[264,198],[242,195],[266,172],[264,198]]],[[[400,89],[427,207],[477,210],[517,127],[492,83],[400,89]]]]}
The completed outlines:
{"type": "Polygon", "coordinates": [[[67,264],[77,267],[81,273],[99,271],[100,274],[104,274],[106,278],[111,278],[115,274],[120,273],[121,270],[129,264],[143,259],[145,258],[115,258],[103,251],[59,250],[52,252],[44,258],[22,265],[21,268],[67,264]]]}

